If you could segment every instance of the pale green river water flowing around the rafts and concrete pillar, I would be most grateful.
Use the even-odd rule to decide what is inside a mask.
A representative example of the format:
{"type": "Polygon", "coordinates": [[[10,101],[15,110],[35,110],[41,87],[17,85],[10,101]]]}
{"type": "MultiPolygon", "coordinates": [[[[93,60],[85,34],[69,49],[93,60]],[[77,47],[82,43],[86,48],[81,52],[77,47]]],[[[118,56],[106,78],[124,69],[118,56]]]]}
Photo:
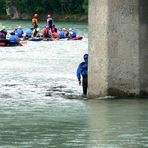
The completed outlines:
{"type": "Polygon", "coordinates": [[[88,25],[56,25],[84,39],[0,47],[0,148],[148,147],[147,98],[83,98],[76,69],[88,52],[88,25]]]}

